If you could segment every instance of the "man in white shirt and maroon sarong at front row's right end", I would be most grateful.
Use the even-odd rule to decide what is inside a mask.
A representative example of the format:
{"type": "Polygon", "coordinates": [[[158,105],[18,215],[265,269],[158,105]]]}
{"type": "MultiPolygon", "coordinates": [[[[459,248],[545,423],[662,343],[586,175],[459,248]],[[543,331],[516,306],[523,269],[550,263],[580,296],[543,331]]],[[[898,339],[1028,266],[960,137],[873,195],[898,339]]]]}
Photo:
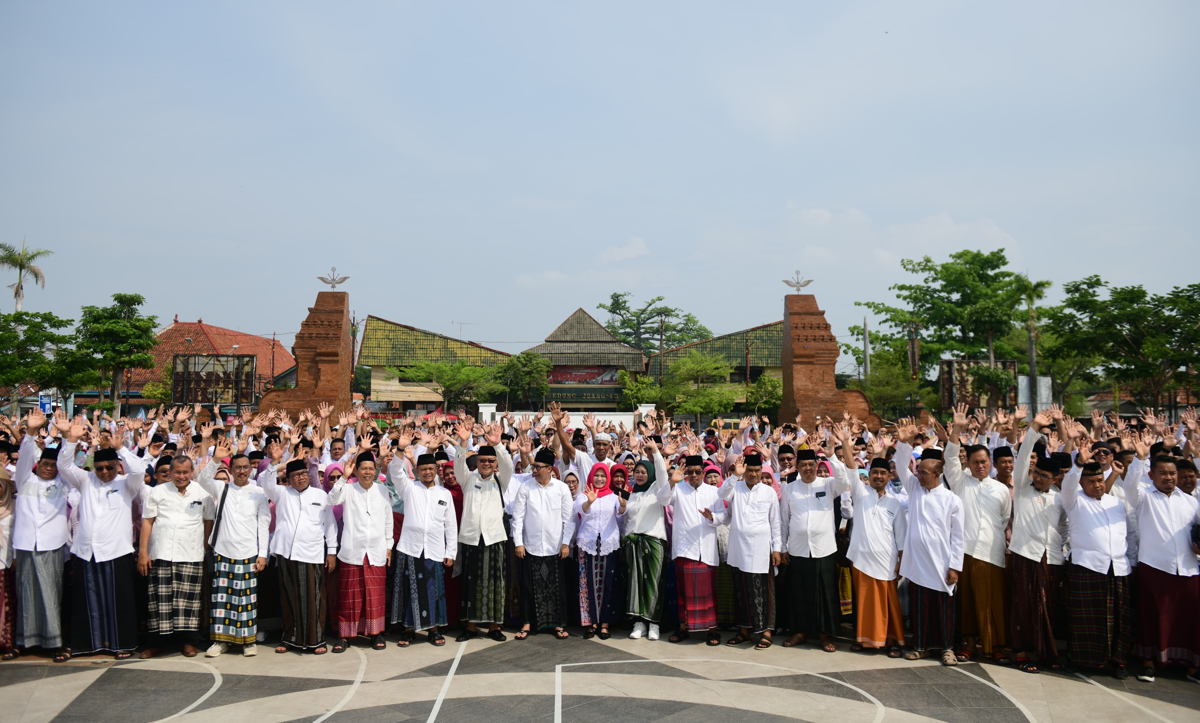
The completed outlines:
{"type": "MultiPolygon", "coordinates": [[[[1154,682],[1154,665],[1183,663],[1188,677],[1200,667],[1196,609],[1200,585],[1192,526],[1200,524],[1200,504],[1176,487],[1175,458],[1150,457],[1150,439],[1135,439],[1138,458],[1121,482],[1138,516],[1138,625],[1134,653],[1144,661],[1138,680],[1154,682]],[[1151,484],[1141,483],[1150,465],[1151,484]]],[[[1114,466],[1116,466],[1115,463],[1114,466]]]]}

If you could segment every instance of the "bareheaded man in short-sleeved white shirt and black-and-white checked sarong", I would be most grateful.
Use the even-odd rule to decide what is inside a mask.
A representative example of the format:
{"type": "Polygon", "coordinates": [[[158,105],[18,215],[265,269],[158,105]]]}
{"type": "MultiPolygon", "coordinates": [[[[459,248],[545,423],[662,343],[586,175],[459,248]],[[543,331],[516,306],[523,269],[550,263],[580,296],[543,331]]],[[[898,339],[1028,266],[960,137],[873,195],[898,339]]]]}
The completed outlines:
{"type": "Polygon", "coordinates": [[[170,464],[170,484],[150,489],[142,505],[138,572],[149,577],[150,643],[143,658],[161,653],[179,633],[184,657],[196,657],[204,608],[204,541],[212,531],[212,495],[192,484],[192,460],[179,456],[170,464]]]}

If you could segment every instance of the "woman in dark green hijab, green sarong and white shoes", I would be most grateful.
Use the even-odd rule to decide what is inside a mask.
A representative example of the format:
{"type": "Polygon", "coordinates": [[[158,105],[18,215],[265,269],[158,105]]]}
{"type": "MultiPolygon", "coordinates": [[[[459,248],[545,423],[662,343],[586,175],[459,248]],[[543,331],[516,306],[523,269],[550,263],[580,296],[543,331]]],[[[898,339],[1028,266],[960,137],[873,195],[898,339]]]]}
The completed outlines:
{"type": "MultiPolygon", "coordinates": [[[[652,442],[653,444],[653,442],[652,442]]],[[[634,487],[625,506],[625,537],[622,547],[625,553],[625,566],[629,572],[629,591],[625,613],[634,619],[634,632],[629,634],[638,639],[643,634],[649,640],[659,639],[659,621],[662,619],[662,570],[667,558],[667,525],[664,514],[664,502],[659,501],[659,490],[667,486],[666,462],[662,456],[642,459],[634,465],[634,487]],[[655,472],[661,468],[662,475],[655,472]]],[[[625,468],[614,464],[611,469],[613,486],[625,480],[625,468]]]]}

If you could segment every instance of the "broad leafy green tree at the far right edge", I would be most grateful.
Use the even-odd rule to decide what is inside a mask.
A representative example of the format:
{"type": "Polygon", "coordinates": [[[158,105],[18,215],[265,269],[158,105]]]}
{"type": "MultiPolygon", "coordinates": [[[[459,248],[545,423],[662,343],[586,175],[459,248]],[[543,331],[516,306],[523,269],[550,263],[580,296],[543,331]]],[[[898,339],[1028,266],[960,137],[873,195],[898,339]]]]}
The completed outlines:
{"type": "Polygon", "coordinates": [[[1063,305],[1045,312],[1044,327],[1074,354],[1098,357],[1142,404],[1158,406],[1176,376],[1200,366],[1200,284],[1151,294],[1088,276],[1063,290],[1063,305]]]}

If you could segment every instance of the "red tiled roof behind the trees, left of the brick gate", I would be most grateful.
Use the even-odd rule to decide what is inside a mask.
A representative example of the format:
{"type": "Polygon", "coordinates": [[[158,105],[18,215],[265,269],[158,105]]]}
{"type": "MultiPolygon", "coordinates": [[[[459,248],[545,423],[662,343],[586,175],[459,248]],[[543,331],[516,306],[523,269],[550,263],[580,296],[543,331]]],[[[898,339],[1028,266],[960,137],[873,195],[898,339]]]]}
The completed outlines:
{"type": "Polygon", "coordinates": [[[271,375],[271,357],[274,351],[275,373],[278,374],[295,366],[296,360],[280,342],[258,337],[232,329],[222,329],[203,321],[174,321],[157,335],[158,345],[150,353],[155,359],[154,369],[136,369],[132,374],[131,390],[140,391],[148,381],[162,376],[162,368],[169,364],[176,354],[253,354],[258,357],[258,374],[271,375]],[[187,339],[192,341],[188,342],[187,339]],[[234,344],[238,345],[234,349],[234,344]]]}

